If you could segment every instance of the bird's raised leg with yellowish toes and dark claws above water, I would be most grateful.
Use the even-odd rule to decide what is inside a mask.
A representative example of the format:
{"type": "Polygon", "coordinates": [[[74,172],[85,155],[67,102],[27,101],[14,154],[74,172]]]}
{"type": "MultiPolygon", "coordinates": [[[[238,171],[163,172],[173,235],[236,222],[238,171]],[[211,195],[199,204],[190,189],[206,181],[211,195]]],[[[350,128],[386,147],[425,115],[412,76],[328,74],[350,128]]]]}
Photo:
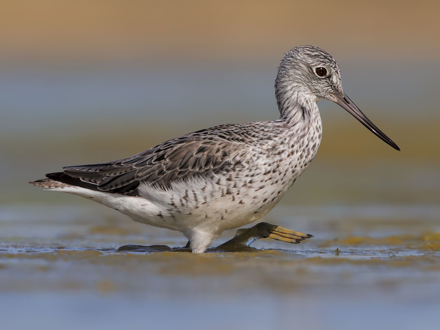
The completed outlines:
{"type": "Polygon", "coordinates": [[[238,229],[234,238],[217,246],[215,249],[223,251],[249,251],[253,250],[250,245],[260,238],[272,238],[277,241],[296,244],[311,237],[313,235],[268,224],[267,222],[260,222],[250,228],[238,229]]]}

